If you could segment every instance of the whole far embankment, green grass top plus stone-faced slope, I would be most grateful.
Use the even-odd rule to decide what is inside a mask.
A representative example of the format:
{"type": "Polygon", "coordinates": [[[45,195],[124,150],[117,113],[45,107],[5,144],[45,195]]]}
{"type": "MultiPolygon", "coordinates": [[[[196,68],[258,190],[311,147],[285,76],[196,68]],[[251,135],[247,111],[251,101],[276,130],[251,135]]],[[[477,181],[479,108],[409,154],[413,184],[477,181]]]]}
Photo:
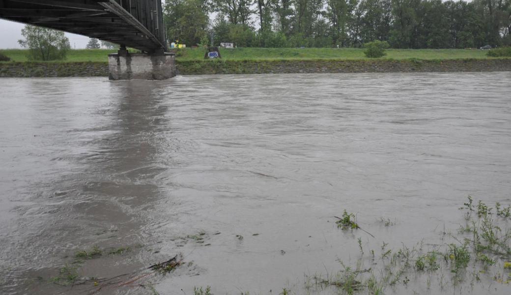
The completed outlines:
{"type": "MultiPolygon", "coordinates": [[[[0,77],[108,76],[108,54],[115,50],[71,50],[65,60],[30,62],[27,50],[0,50],[11,61],[0,62],[0,77]],[[84,65],[84,63],[86,63],[84,65]]],[[[367,72],[493,72],[511,71],[511,58],[489,57],[485,50],[389,49],[381,58],[367,58],[357,48],[221,49],[221,59],[204,59],[203,48],[176,51],[181,75],[367,72]]]]}

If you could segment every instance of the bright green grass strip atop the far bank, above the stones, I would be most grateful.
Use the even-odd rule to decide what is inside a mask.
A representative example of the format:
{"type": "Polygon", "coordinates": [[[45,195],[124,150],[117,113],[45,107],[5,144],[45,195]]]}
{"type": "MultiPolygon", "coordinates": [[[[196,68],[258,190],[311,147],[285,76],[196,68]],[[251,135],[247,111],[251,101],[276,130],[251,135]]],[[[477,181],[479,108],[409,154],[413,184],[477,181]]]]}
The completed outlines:
{"type": "MultiPolygon", "coordinates": [[[[115,50],[105,49],[79,49],[67,53],[65,60],[52,62],[107,62],[108,54],[115,50]]],[[[491,58],[486,56],[485,50],[470,49],[388,49],[387,55],[381,59],[466,59],[491,58]]],[[[12,61],[28,61],[27,50],[7,49],[0,50],[12,61]]],[[[178,60],[202,60],[205,50],[202,48],[185,48],[177,52],[178,60]]],[[[299,59],[368,59],[363,49],[358,48],[236,48],[221,49],[220,54],[224,60],[299,60],[299,59]]]]}

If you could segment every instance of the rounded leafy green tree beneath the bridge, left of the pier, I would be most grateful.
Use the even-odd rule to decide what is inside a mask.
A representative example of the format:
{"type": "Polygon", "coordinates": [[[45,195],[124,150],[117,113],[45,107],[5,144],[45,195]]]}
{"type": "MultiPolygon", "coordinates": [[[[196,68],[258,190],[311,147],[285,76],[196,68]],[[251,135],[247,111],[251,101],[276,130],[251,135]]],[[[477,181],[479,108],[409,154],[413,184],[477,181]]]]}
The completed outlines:
{"type": "Polygon", "coordinates": [[[29,49],[29,60],[55,60],[65,59],[69,46],[69,39],[64,32],[26,25],[21,29],[24,40],[18,43],[29,49]]]}

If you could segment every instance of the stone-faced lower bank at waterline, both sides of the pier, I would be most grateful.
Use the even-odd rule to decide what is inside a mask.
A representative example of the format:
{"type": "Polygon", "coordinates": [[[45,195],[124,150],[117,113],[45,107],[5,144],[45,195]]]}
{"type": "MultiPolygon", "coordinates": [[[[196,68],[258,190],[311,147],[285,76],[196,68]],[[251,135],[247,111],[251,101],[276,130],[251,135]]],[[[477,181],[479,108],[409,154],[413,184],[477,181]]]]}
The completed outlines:
{"type": "MultiPolygon", "coordinates": [[[[177,60],[179,75],[505,72],[511,59],[374,59],[374,60],[177,60]]],[[[0,77],[108,77],[106,62],[6,62],[0,77]]]]}

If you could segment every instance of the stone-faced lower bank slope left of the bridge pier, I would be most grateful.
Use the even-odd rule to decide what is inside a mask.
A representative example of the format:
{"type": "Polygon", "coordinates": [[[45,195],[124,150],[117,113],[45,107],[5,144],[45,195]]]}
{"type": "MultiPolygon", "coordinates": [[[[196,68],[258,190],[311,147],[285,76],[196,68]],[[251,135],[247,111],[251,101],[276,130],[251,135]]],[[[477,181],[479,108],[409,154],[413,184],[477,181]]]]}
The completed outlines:
{"type": "Polygon", "coordinates": [[[0,77],[108,77],[108,63],[2,62],[0,77]]]}

